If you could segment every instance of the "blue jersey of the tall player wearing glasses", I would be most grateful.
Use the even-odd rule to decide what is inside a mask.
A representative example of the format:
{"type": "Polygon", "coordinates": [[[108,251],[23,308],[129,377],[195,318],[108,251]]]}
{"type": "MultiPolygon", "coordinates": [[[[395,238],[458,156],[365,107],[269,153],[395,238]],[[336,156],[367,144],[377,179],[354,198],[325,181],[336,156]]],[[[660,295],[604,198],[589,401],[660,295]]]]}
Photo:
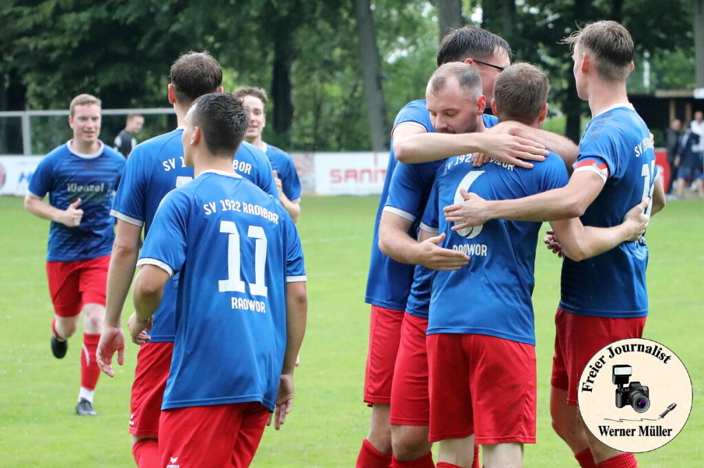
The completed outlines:
{"type": "MultiPolygon", "coordinates": [[[[425,105],[425,99],[412,100],[406,104],[396,115],[394,128],[400,124],[415,124],[421,126],[427,132],[434,132],[435,129],[430,122],[430,114],[425,105]]],[[[382,254],[379,250],[379,221],[382,217],[382,210],[386,204],[386,197],[389,195],[391,176],[396,169],[396,154],[394,153],[394,141],[391,140],[391,154],[389,155],[389,166],[386,167],[386,178],[382,197],[379,199],[379,208],[374,222],[374,236],[372,238],[372,255],[369,263],[369,275],[367,276],[367,293],[365,302],[374,306],[391,308],[402,311],[406,308],[408,300],[408,290],[413,282],[413,265],[399,264],[382,254]]],[[[415,238],[417,233],[417,222],[411,226],[409,234],[415,238]]]]}

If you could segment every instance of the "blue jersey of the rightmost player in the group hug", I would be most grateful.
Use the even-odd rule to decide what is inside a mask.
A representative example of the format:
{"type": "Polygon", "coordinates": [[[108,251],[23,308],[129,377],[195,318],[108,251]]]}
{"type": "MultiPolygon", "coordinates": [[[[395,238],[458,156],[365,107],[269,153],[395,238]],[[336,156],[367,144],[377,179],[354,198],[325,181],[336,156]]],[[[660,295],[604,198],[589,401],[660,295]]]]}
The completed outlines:
{"type": "MultiPolygon", "coordinates": [[[[611,108],[589,121],[579,141],[575,171],[590,165],[601,167],[606,181],[581,217],[584,226],[617,226],[629,209],[653,195],[653,142],[633,108],[611,108]]],[[[648,315],[646,264],[648,247],[642,239],[580,262],[565,258],[560,308],[594,317],[648,315]]]]}

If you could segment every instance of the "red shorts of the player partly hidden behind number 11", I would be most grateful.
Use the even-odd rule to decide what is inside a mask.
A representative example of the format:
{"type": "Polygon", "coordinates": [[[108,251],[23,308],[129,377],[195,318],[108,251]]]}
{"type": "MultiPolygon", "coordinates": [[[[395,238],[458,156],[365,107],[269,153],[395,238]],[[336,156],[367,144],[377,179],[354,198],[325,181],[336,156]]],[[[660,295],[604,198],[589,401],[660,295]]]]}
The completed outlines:
{"type": "Polygon", "coordinates": [[[134,436],[159,436],[161,401],[173,350],[172,342],[139,346],[130,398],[130,434],[134,436]]]}

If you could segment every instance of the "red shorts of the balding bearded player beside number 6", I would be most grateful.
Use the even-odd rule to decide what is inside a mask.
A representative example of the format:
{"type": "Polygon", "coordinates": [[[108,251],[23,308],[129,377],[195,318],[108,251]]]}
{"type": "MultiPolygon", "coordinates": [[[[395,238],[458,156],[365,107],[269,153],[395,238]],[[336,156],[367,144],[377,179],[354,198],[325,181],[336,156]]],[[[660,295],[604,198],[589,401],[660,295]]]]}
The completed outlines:
{"type": "Polygon", "coordinates": [[[407,313],[401,325],[394,383],[391,384],[391,424],[427,426],[430,420],[428,397],[428,355],[425,332],[428,319],[407,313]]]}

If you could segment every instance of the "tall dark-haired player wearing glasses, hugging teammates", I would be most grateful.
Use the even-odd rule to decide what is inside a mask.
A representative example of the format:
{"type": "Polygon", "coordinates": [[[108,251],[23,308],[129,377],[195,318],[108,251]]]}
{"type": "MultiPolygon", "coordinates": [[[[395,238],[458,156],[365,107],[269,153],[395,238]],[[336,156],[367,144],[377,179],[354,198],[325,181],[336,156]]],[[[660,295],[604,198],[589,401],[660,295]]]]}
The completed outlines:
{"type": "MultiPolygon", "coordinates": [[[[437,63],[438,66],[449,62],[465,62],[472,65],[482,77],[482,92],[490,98],[494,93],[494,80],[498,72],[509,65],[510,56],[510,46],[501,37],[479,27],[462,27],[443,39],[438,50],[437,63]]],[[[389,425],[391,382],[401,337],[401,323],[405,315],[404,309],[413,282],[413,265],[424,264],[425,261],[428,261],[427,259],[433,258],[440,261],[443,259],[455,261],[458,255],[457,252],[448,252],[446,249],[434,247],[432,242],[422,245],[425,250],[420,251],[415,242],[415,230],[409,230],[411,226],[406,217],[396,216],[390,212],[382,213],[386,197],[389,195],[389,185],[397,167],[396,159],[408,161],[410,156],[419,152],[419,148],[422,148],[421,154],[428,152],[434,155],[425,161],[438,160],[461,152],[483,151],[495,157],[509,158],[509,161],[529,167],[529,162],[516,158],[541,160],[543,154],[546,154],[543,144],[521,136],[466,133],[462,129],[465,123],[460,125],[458,122],[451,123],[453,120],[460,121],[465,115],[458,115],[456,109],[448,109],[443,112],[438,121],[443,133],[436,134],[425,100],[411,101],[398,113],[391,134],[391,157],[377,210],[366,295],[367,303],[372,304],[372,312],[370,349],[365,375],[365,401],[372,405],[372,424],[370,433],[360,450],[358,466],[388,467],[391,463],[391,426],[389,425]],[[457,136],[462,143],[460,147],[462,150],[445,154],[433,153],[436,146],[437,148],[448,148],[444,139],[440,142],[433,141],[428,145],[425,138],[433,136],[446,138],[457,136]],[[430,148],[428,149],[427,146],[430,148]],[[386,231],[389,239],[394,239],[394,242],[387,243],[389,252],[386,252],[393,259],[382,254],[377,247],[379,234],[382,230],[386,231]]],[[[496,121],[494,120],[494,122],[496,121]]],[[[524,130],[521,129],[521,131],[524,130]]],[[[549,132],[529,129],[524,134],[543,141],[543,143],[551,142],[551,145],[559,148],[560,153],[571,154],[573,152],[573,143],[549,132]]],[[[422,160],[416,162],[422,162],[422,160]]],[[[429,171],[429,174],[431,174],[430,183],[432,183],[434,171],[429,171]]],[[[429,187],[430,183],[425,181],[421,185],[425,184],[429,187]]],[[[419,190],[423,189],[419,188],[419,190]]],[[[427,188],[425,190],[427,193],[427,188]]],[[[425,200],[422,200],[422,203],[425,204],[425,200]]],[[[422,212],[422,208],[419,214],[420,212],[422,212]]],[[[399,450],[402,450],[402,446],[410,447],[410,449],[408,452],[403,450],[406,453],[398,453],[401,460],[396,460],[396,463],[410,462],[410,458],[424,453],[423,450],[425,450],[414,442],[420,440],[418,436],[420,431],[415,430],[417,428],[408,427],[400,429],[398,433],[403,434],[403,439],[407,442],[397,441],[396,446],[399,450]]]]}

